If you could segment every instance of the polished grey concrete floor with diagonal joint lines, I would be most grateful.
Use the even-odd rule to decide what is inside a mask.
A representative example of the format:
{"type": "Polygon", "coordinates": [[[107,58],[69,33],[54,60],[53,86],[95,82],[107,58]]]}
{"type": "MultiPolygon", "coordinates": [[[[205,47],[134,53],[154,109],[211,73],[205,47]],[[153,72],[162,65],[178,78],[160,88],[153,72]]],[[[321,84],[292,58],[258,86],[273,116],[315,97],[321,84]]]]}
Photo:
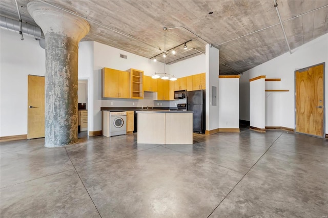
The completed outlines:
{"type": "Polygon", "coordinates": [[[2,143],[1,217],[327,217],[328,140],[272,130],[2,143]]]}

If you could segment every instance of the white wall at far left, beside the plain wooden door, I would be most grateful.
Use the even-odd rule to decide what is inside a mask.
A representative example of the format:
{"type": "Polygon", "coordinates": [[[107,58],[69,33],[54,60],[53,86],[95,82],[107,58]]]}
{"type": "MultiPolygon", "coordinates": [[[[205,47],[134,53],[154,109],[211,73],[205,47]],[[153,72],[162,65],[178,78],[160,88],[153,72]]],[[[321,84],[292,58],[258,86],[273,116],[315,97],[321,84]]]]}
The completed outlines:
{"type": "Polygon", "coordinates": [[[44,76],[45,50],[32,37],[0,31],[0,137],[27,134],[27,76],[44,76]]]}

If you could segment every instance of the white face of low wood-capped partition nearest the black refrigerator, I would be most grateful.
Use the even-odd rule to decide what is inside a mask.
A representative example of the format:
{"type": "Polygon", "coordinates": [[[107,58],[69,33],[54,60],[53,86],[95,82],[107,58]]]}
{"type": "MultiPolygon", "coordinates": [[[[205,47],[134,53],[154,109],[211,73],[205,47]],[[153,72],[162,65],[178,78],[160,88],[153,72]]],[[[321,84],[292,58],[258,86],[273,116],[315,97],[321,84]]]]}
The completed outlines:
{"type": "Polygon", "coordinates": [[[219,127],[239,128],[239,78],[219,78],[219,127]]]}

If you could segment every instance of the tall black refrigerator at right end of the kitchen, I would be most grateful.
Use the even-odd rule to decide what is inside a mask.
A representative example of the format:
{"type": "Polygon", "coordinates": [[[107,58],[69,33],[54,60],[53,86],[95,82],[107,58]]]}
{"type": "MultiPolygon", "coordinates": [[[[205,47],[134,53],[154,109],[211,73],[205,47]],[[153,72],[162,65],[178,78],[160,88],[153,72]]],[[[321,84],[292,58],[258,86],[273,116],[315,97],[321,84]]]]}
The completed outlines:
{"type": "Polygon", "coordinates": [[[205,90],[190,91],[187,95],[187,110],[193,111],[193,132],[205,133],[205,90]]]}

